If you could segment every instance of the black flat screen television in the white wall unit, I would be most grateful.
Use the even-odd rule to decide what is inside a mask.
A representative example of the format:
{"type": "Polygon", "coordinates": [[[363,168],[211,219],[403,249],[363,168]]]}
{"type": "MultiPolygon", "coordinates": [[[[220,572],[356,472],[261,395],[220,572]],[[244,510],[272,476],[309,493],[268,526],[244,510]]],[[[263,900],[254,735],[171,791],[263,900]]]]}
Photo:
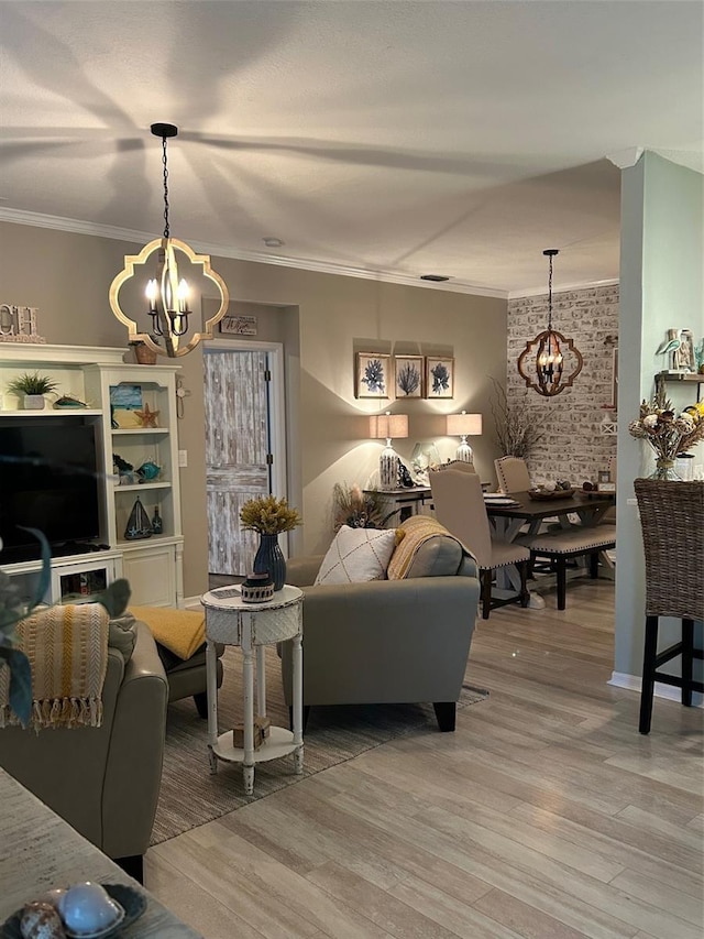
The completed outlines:
{"type": "Polygon", "coordinates": [[[38,528],[52,555],[90,549],[100,535],[96,427],[78,417],[0,417],[0,565],[33,560],[38,528]]]}

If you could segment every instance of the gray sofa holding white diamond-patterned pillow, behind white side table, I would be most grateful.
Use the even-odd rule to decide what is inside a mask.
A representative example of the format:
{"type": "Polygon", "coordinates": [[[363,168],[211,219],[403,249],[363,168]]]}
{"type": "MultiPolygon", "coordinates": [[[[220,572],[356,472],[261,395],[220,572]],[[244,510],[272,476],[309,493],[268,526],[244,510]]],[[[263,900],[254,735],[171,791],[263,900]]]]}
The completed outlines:
{"type": "MultiPolygon", "coordinates": [[[[305,592],[304,722],[311,706],[432,702],[440,730],[454,730],[480,597],[474,560],[438,534],[403,580],[314,587],[321,561],[287,563],[287,582],[305,592]]],[[[280,655],[290,707],[290,643],[280,655]]]]}

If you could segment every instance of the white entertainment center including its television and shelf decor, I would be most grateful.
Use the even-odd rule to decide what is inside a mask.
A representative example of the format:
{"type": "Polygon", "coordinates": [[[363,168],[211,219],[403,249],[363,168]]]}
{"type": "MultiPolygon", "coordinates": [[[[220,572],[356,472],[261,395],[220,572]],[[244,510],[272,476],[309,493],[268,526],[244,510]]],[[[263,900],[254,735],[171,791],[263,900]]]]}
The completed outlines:
{"type": "Polygon", "coordinates": [[[41,561],[38,542],[23,526],[38,528],[52,545],[47,602],[125,577],[132,603],[183,605],[179,367],[131,364],[124,356],[124,349],[0,345],[0,568],[24,596],[41,561]],[[7,391],[28,371],[56,382],[44,410],[22,410],[7,391]],[[56,396],[79,404],[54,408],[56,396]],[[138,498],[141,517],[154,524],[135,529],[138,498]]]}

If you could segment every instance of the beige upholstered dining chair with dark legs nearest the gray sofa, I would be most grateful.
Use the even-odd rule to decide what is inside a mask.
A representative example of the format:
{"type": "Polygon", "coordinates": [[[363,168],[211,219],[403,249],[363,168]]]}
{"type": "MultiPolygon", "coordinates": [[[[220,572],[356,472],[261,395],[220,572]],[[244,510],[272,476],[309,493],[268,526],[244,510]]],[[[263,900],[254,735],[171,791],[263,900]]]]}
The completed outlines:
{"type": "Polygon", "coordinates": [[[521,607],[527,607],[529,593],[526,580],[530,552],[522,545],[492,537],[479,476],[457,469],[431,470],[428,480],[438,522],[476,558],[482,583],[482,619],[487,620],[490,610],[495,607],[515,603],[516,600],[520,601],[521,607]],[[494,572],[507,565],[516,565],[518,568],[520,591],[508,599],[492,598],[494,572]]]}

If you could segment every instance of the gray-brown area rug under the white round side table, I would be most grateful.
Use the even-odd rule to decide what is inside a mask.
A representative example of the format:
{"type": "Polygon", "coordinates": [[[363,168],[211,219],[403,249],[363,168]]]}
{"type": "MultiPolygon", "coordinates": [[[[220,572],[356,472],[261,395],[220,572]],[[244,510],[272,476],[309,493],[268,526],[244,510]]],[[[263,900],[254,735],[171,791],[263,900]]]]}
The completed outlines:
{"type": "MultiPolygon", "coordinates": [[[[242,684],[240,651],[227,648],[224,680],[218,695],[220,732],[241,720],[242,684]]],[[[266,649],[266,706],[273,724],[288,727],[280,665],[276,651],[266,649]]],[[[483,701],[488,692],[465,685],[458,708],[483,701]]],[[[168,707],[164,772],[152,844],[268,796],[285,786],[344,763],[375,746],[410,733],[437,733],[432,705],[359,705],[311,708],[305,736],[302,776],[293,769],[293,757],[257,764],[254,794],[244,795],[242,766],[222,763],[210,774],[207,722],[198,717],[191,698],[168,707]]]]}

